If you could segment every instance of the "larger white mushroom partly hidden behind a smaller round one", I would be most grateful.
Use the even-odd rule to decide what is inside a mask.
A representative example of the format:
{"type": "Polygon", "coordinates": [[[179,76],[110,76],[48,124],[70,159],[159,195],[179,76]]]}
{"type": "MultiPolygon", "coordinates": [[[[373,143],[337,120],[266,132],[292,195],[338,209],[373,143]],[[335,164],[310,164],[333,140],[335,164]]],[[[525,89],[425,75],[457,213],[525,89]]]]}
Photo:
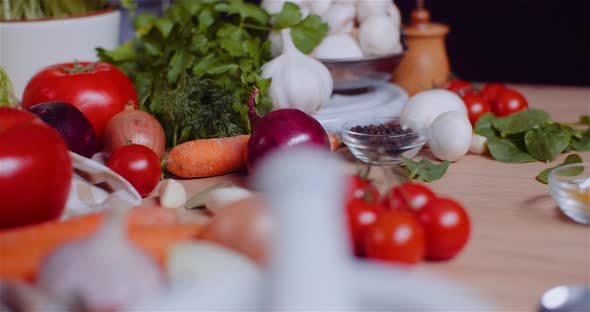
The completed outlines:
{"type": "Polygon", "coordinates": [[[426,90],[408,100],[401,112],[400,122],[410,129],[427,129],[436,117],[448,111],[460,111],[467,116],[465,104],[457,94],[444,89],[426,90]]]}

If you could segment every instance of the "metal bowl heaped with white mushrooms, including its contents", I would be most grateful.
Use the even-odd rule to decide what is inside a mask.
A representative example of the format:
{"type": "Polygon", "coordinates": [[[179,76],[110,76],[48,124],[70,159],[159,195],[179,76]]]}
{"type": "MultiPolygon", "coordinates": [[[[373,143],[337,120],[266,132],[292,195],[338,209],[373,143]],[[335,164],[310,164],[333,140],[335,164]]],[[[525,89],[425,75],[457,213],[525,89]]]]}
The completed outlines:
{"type": "Polygon", "coordinates": [[[334,91],[371,88],[391,78],[405,52],[401,16],[393,1],[307,3],[330,27],[312,56],[330,70],[334,91]]]}

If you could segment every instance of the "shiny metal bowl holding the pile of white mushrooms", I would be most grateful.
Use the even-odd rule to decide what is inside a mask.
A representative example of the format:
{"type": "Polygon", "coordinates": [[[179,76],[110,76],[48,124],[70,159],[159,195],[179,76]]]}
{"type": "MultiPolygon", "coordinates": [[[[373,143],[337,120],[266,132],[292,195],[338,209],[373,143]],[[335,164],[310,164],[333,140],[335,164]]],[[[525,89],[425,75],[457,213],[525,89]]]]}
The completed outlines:
{"type": "Polygon", "coordinates": [[[385,56],[318,61],[328,67],[334,79],[334,91],[338,92],[372,88],[389,81],[404,55],[405,50],[385,56]]]}

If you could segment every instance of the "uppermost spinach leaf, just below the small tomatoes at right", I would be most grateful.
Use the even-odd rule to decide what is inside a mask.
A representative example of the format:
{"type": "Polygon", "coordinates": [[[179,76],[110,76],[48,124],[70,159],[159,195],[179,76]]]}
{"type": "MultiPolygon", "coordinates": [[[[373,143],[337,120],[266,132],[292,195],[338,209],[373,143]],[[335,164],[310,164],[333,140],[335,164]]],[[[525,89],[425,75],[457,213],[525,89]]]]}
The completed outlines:
{"type": "Polygon", "coordinates": [[[526,109],[492,121],[502,137],[524,133],[551,121],[549,114],[538,109],[526,109]]]}

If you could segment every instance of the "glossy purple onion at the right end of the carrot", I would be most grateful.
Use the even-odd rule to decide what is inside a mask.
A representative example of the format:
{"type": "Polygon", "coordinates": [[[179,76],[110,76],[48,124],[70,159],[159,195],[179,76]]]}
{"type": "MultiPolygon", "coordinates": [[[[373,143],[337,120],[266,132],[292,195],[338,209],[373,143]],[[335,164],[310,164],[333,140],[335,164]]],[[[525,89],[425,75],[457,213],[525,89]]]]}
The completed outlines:
{"type": "Polygon", "coordinates": [[[246,164],[252,172],[256,163],[275,150],[296,146],[317,146],[330,150],[324,127],[298,109],[279,109],[255,121],[248,141],[246,164]]]}

